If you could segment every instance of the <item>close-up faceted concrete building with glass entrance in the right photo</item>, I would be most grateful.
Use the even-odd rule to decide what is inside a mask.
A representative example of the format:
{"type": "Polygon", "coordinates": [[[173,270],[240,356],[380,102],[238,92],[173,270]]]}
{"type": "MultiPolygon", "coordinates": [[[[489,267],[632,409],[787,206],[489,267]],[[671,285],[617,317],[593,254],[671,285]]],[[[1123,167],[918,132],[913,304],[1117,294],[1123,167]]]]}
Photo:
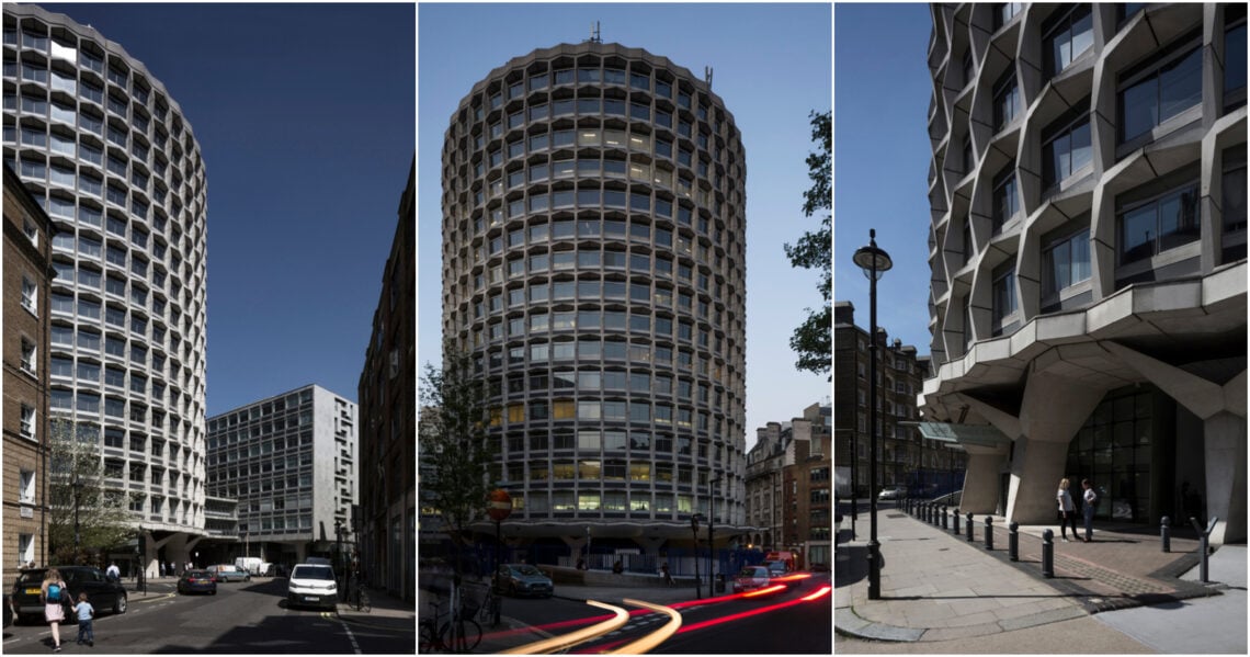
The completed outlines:
{"type": "Polygon", "coordinates": [[[931,11],[919,403],[1002,438],[964,506],[1052,522],[1089,477],[1101,518],[1245,541],[1245,5],[931,11]]]}

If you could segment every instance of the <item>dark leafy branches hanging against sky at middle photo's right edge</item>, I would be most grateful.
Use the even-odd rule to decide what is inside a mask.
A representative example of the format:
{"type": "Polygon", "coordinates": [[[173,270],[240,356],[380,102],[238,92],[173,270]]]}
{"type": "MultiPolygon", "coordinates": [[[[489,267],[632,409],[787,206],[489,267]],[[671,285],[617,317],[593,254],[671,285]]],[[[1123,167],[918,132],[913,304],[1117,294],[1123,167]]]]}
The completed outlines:
{"type": "Polygon", "coordinates": [[[808,154],[808,178],[811,188],[802,193],[802,213],[811,216],[824,210],[819,230],[809,230],[799,238],[795,245],[786,244],[785,254],[792,267],[818,269],[820,284],[816,288],[824,298],[824,307],[812,310],[805,308],[808,319],[794,329],[790,348],[799,354],[795,367],[816,374],[828,374],[834,353],[834,322],[831,299],[832,278],[832,113],[809,114],[811,119],[811,140],[819,146],[808,154]]]}

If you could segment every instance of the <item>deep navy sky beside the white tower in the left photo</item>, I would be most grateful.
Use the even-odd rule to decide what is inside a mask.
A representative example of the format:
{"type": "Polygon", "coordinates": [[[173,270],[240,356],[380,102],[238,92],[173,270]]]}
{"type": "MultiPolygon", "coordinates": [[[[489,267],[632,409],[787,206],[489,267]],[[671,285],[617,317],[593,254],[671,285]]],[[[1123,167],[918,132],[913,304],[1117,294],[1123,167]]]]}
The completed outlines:
{"type": "Polygon", "coordinates": [[[415,149],[415,6],[41,5],[142,61],[208,176],[208,413],[358,398],[415,149]]]}

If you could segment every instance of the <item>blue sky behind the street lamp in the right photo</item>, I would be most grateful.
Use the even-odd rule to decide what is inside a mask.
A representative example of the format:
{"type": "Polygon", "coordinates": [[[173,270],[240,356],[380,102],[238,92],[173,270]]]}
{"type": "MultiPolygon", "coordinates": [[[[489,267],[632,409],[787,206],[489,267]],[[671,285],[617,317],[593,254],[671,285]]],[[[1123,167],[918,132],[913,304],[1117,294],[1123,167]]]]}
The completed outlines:
{"type": "Polygon", "coordinates": [[[834,299],[869,327],[869,282],[851,262],[876,229],[894,268],[876,284],[876,323],[928,355],[929,5],[834,10],[834,299]]]}

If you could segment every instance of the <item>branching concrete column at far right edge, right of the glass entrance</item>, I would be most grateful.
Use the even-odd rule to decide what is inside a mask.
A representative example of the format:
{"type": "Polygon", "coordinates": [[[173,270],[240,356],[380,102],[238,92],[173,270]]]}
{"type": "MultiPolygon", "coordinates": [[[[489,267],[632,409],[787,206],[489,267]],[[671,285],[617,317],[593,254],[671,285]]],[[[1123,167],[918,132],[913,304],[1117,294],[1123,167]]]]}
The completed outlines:
{"type": "MultiPolygon", "coordinates": [[[[1214,383],[1114,342],[1102,348],[1202,419],[1206,514],[1219,517],[1211,544],[1246,539],[1246,370],[1214,383]]],[[[1184,437],[1178,437],[1184,439],[1184,437]]],[[[1188,519],[1188,518],[1185,518],[1188,519]]]]}

